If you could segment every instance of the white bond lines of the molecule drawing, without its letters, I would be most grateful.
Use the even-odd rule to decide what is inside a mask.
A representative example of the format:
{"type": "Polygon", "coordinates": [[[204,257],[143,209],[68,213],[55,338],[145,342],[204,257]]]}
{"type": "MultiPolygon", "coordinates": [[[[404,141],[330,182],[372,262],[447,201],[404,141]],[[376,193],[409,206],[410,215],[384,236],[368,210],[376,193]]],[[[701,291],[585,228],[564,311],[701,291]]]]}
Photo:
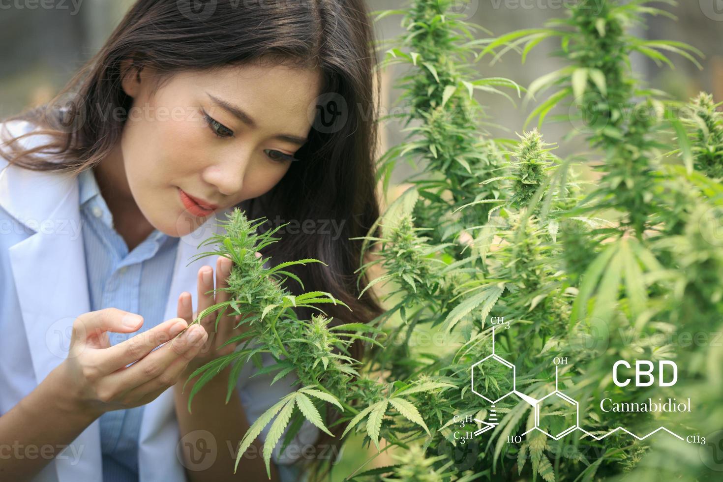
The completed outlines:
{"type": "MultiPolygon", "coordinates": [[[[506,326],[507,326],[507,328],[509,328],[509,324],[507,324],[506,326]]],[[[564,393],[560,392],[560,390],[558,388],[558,367],[557,366],[555,366],[555,391],[554,392],[549,393],[548,395],[545,395],[544,397],[542,397],[539,400],[537,400],[536,398],[531,397],[529,395],[525,395],[522,392],[518,392],[517,380],[516,380],[517,379],[517,374],[516,374],[517,368],[515,367],[514,363],[510,363],[509,361],[505,360],[505,358],[502,358],[495,353],[495,330],[496,329],[497,329],[497,326],[493,325],[492,326],[492,354],[489,356],[486,356],[486,357],[482,358],[482,360],[474,363],[471,368],[471,370],[472,370],[472,374],[471,374],[472,392],[474,392],[476,395],[484,398],[484,400],[487,400],[487,402],[492,404],[492,408],[490,410],[490,415],[489,415],[489,421],[484,421],[484,420],[480,420],[479,418],[474,418],[474,421],[476,421],[477,423],[479,423],[482,426],[482,428],[480,428],[479,430],[474,432],[475,436],[482,435],[482,434],[484,434],[484,432],[492,430],[495,428],[495,426],[499,425],[499,423],[497,423],[497,411],[495,410],[494,404],[499,402],[500,400],[504,399],[505,397],[508,397],[509,395],[514,394],[514,395],[517,395],[518,397],[520,397],[521,400],[525,401],[526,403],[529,403],[529,405],[532,405],[532,407],[535,410],[535,417],[534,417],[535,426],[532,427],[531,429],[529,429],[528,431],[525,431],[521,436],[525,436],[525,435],[529,434],[531,431],[536,430],[536,431],[542,432],[543,434],[545,434],[546,436],[548,436],[551,439],[560,440],[560,439],[562,439],[562,437],[572,434],[574,431],[579,430],[579,431],[583,432],[582,437],[591,436],[593,439],[602,440],[605,437],[609,436],[610,434],[614,434],[616,431],[624,431],[626,434],[629,434],[630,436],[633,436],[638,440],[644,440],[644,439],[648,438],[649,436],[656,434],[659,431],[666,431],[668,434],[675,436],[675,438],[680,439],[683,442],[686,442],[686,440],[683,439],[682,436],[676,434],[673,431],[670,431],[669,429],[666,429],[664,426],[660,426],[659,428],[655,429],[654,431],[651,431],[649,434],[646,434],[643,436],[638,436],[636,434],[633,434],[633,432],[631,432],[627,429],[624,429],[622,426],[619,426],[616,429],[612,429],[611,431],[607,432],[607,434],[604,434],[602,436],[595,436],[595,435],[591,434],[589,431],[586,431],[585,429],[583,429],[580,426],[580,407],[579,407],[577,401],[573,400],[573,398],[571,398],[571,397],[568,397],[568,395],[565,395],[564,393]],[[474,384],[474,367],[478,366],[488,360],[493,360],[497,363],[501,363],[503,366],[506,366],[506,367],[508,367],[508,369],[512,370],[512,376],[513,376],[512,390],[507,392],[505,395],[502,395],[501,397],[497,398],[497,400],[490,400],[488,397],[486,397],[482,393],[475,390],[476,387],[474,384]],[[542,401],[546,400],[548,397],[553,397],[553,396],[558,397],[558,398],[560,398],[560,400],[562,400],[570,405],[573,405],[575,407],[575,425],[568,427],[567,429],[565,429],[564,431],[560,432],[560,434],[557,434],[557,435],[548,434],[546,431],[540,429],[540,427],[539,427],[540,407],[542,406],[542,401]]],[[[690,438],[690,437],[688,437],[688,438],[690,438]]]]}

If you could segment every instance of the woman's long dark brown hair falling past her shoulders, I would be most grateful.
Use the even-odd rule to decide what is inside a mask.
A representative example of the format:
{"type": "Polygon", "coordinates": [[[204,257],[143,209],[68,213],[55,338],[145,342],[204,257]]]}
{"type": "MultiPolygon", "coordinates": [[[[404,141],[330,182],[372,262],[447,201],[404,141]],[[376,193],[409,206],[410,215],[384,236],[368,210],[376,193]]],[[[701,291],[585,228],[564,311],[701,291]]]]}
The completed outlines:
{"type": "MultiPolygon", "coordinates": [[[[379,217],[374,156],[380,83],[372,39],[363,0],[138,0],[51,103],[5,119],[38,124],[42,129],[30,134],[48,134],[51,141],[4,157],[35,171],[80,173],[93,168],[119,142],[124,127],[124,116],[108,113],[127,114],[132,106],[121,88],[121,61],[127,59],[139,69],[160,72],[162,81],[182,71],[259,59],[315,66],[324,78],[321,98],[328,102],[320,106],[309,141],[296,153],[300,161],[291,164],[273,189],[239,207],[249,218],[299,224],[312,220],[317,229],[281,236],[262,254],[276,262],[322,260],[328,266],[312,263],[288,270],[303,280],[307,291],[333,293],[351,307],[326,305],[335,322],[369,322],[382,308],[371,290],[358,298],[369,280],[357,283],[361,241],[349,238],[365,236],[379,217]],[[51,106],[59,103],[66,107],[61,120],[48,116],[57,113],[51,106]],[[335,115],[335,123],[328,124],[322,114],[335,115]],[[52,160],[38,156],[48,154],[52,160]],[[323,228],[333,222],[341,231],[323,228]]],[[[22,137],[8,145],[14,147],[22,137]]],[[[299,286],[288,288],[300,292],[299,286]]],[[[299,315],[310,313],[301,309],[299,315]]],[[[361,358],[361,345],[353,351],[361,358]]]]}

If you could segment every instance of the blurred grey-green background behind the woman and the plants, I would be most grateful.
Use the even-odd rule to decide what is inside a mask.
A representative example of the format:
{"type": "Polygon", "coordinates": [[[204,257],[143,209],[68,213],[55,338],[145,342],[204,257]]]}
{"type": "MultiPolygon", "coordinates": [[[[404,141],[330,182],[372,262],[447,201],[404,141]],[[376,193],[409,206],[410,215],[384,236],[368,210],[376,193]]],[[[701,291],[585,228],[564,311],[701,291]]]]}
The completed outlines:
{"type": "MultiPolygon", "coordinates": [[[[552,17],[562,17],[567,0],[459,0],[455,12],[470,22],[487,28],[494,35],[527,27],[540,27],[552,17]]],[[[46,103],[71,79],[103,45],[133,0],[4,0],[0,2],[0,42],[6,46],[0,63],[0,116],[7,117],[25,108],[46,103]],[[43,8],[43,6],[52,8],[43,8]]],[[[369,9],[402,9],[406,1],[367,0],[369,9]]],[[[659,6],[659,5],[656,5],[659,6]]],[[[630,59],[633,69],[651,87],[670,94],[677,100],[688,100],[701,90],[723,100],[723,1],[683,0],[677,7],[659,6],[677,16],[651,17],[646,27],[638,27],[636,35],[650,39],[665,38],[689,43],[705,54],[699,70],[690,61],[674,53],[669,55],[675,69],[659,68],[642,57],[630,59]]],[[[403,33],[400,17],[385,17],[375,25],[378,40],[389,40],[403,33]]],[[[484,34],[483,34],[484,35],[484,34]]],[[[476,64],[480,77],[508,77],[520,85],[529,85],[536,77],[559,69],[561,62],[548,54],[554,42],[542,43],[521,64],[516,53],[508,53],[502,61],[490,65],[490,56],[476,64]]],[[[380,58],[382,58],[380,53],[380,58]]],[[[390,68],[382,73],[382,111],[394,106],[395,78],[402,72],[390,68]]],[[[486,106],[489,121],[499,127],[490,129],[495,137],[515,137],[521,132],[534,103],[526,108],[513,108],[500,96],[477,94],[486,106]]],[[[544,99],[544,96],[541,96],[544,99]]],[[[555,142],[569,130],[569,125],[545,124],[542,127],[548,142],[555,142]]],[[[385,121],[381,129],[382,152],[403,141],[403,133],[395,121],[385,121]]],[[[576,152],[575,145],[560,145],[557,155],[576,152]]],[[[393,184],[411,173],[408,165],[398,165],[393,184]]],[[[392,195],[393,197],[393,195],[392,195]]],[[[388,200],[390,201],[390,199],[388,200]]],[[[359,449],[360,440],[346,444],[333,480],[340,480],[367,459],[366,450],[359,449]]],[[[371,452],[369,452],[371,453],[371,452]]],[[[382,455],[364,467],[388,465],[382,455]]]]}

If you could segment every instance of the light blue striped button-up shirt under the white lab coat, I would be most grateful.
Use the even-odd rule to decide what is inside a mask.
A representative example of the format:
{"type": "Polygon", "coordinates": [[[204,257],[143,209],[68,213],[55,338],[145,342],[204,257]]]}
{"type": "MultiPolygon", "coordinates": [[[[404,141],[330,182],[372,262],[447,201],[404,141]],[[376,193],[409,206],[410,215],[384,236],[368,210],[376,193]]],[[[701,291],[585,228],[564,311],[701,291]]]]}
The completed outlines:
{"type": "MultiPolygon", "coordinates": [[[[113,216],[93,171],[78,176],[90,309],[115,307],[143,317],[139,330],[108,332],[116,345],[163,322],[179,238],[157,229],[130,253],[114,229],[113,216]]],[[[143,405],[100,416],[104,482],[138,481],[138,437],[143,405]]]]}

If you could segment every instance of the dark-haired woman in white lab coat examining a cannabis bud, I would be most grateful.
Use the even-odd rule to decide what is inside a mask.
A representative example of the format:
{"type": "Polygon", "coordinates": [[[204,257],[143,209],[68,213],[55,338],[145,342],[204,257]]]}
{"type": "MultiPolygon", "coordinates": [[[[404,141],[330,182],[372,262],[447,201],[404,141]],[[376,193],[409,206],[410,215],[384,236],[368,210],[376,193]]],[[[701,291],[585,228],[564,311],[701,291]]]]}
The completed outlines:
{"type": "MultiPolygon", "coordinates": [[[[330,316],[380,314],[357,299],[349,240],[378,217],[371,41],[362,0],[139,0],[54,103],[7,119],[2,480],[236,477],[241,436],[294,380],[246,366],[226,405],[221,372],[189,413],[184,382],[238,333],[226,316],[213,332],[210,314],[176,337],[223,301],[231,261],[187,263],[236,206],[301,227],[262,254],[328,264],[295,274],[353,310],[330,316]]],[[[316,437],[309,424],[295,457],[277,450],[272,478],[298,480],[316,437]]],[[[243,480],[266,479],[259,454],[241,458],[243,480]]]]}

